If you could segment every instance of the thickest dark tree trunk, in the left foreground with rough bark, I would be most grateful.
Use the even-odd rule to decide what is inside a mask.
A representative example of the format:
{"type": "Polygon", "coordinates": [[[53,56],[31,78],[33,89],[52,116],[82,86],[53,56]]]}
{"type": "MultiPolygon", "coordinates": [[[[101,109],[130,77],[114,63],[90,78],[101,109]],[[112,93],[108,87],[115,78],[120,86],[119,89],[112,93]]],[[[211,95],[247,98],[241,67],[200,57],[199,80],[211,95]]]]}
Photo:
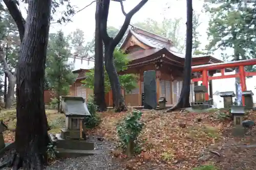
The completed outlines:
{"type": "Polygon", "coordinates": [[[42,169],[47,158],[44,76],[51,0],[29,1],[26,31],[17,64],[17,124],[14,169],[42,169]]]}

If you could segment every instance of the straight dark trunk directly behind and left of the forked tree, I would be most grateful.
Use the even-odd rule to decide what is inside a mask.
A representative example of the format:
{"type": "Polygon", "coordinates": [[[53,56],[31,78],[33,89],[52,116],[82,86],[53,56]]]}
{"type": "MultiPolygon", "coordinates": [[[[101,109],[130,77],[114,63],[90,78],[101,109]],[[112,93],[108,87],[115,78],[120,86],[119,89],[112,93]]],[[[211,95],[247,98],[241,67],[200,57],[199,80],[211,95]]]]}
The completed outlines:
{"type": "Polygon", "coordinates": [[[105,111],[105,92],[104,92],[104,65],[103,65],[103,42],[100,35],[100,0],[96,2],[95,12],[95,62],[94,62],[94,102],[98,106],[98,110],[105,111]]]}

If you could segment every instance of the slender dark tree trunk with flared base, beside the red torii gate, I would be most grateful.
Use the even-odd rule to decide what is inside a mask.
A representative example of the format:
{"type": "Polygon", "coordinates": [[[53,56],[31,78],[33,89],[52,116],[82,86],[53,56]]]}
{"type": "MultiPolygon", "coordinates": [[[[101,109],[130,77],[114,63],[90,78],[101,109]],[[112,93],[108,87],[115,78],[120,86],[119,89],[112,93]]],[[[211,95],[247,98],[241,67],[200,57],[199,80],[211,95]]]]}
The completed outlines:
{"type": "Polygon", "coordinates": [[[186,0],[187,3],[187,30],[186,30],[186,55],[184,64],[184,76],[182,90],[179,101],[176,106],[167,110],[167,112],[174,111],[181,108],[190,107],[190,79],[191,79],[191,60],[192,60],[192,38],[193,38],[193,7],[192,0],[186,0]]]}

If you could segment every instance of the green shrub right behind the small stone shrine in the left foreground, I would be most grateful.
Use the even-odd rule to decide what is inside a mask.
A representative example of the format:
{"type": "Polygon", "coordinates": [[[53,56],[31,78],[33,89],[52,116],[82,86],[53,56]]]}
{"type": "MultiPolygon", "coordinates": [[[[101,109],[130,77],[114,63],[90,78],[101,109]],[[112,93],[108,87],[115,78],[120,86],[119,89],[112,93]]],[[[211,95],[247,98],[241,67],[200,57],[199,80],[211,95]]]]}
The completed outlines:
{"type": "Polygon", "coordinates": [[[101,122],[101,119],[97,114],[97,107],[98,106],[94,104],[93,96],[90,96],[87,101],[87,108],[91,113],[91,116],[86,116],[86,118],[84,118],[84,124],[88,129],[97,127],[101,122]]]}

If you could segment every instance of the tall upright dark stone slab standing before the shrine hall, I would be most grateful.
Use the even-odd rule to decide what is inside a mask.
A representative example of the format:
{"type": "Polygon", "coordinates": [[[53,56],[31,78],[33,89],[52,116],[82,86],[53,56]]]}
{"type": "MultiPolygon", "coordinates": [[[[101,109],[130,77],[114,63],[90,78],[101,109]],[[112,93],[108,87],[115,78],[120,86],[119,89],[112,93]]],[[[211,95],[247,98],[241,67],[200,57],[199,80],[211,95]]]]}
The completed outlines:
{"type": "Polygon", "coordinates": [[[157,93],[156,93],[156,71],[144,71],[144,95],[145,95],[145,109],[156,109],[157,107],[157,93]]]}

